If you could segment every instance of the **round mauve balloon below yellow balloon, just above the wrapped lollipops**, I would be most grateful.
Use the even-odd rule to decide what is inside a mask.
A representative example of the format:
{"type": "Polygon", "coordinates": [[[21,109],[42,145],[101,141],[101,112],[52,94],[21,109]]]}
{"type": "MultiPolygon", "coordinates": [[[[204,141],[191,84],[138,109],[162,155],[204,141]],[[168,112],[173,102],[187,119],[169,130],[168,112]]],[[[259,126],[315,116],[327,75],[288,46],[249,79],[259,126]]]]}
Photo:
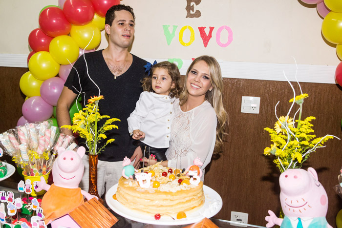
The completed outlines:
{"type": "Polygon", "coordinates": [[[42,97],[34,96],[22,104],[21,112],[28,122],[42,122],[51,118],[53,106],[44,102],[42,97]]]}

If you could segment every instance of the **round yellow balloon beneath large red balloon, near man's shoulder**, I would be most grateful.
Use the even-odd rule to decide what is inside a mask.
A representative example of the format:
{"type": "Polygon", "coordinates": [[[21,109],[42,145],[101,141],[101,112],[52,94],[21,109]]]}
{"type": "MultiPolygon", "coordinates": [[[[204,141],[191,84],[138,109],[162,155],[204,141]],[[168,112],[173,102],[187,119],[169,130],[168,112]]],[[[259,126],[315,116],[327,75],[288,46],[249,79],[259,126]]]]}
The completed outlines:
{"type": "Polygon", "coordinates": [[[52,39],[49,52],[56,62],[66,65],[77,60],[80,49],[74,39],[63,35],[52,39]]]}

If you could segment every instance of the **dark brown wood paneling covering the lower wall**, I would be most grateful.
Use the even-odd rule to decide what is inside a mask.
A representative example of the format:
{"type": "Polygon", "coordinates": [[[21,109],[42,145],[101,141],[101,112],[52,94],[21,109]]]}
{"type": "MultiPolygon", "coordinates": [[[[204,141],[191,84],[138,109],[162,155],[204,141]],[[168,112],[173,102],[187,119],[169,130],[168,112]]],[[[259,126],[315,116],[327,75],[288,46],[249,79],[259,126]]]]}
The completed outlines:
{"type": "MultiPolygon", "coordinates": [[[[19,81],[27,71],[27,68],[0,67],[0,132],[15,127],[22,115],[25,96],[20,91],[19,81]]],[[[280,172],[272,163],[272,157],[263,155],[264,148],[271,144],[263,128],[275,124],[274,107],[278,101],[278,116],[286,115],[293,92],[286,82],[230,78],[224,78],[223,82],[224,104],[229,115],[227,142],[220,158],[206,168],[205,184],[223,199],[223,207],[216,218],[230,220],[231,211],[239,211],[249,214],[250,224],[265,226],[267,210],[278,213],[280,209],[280,172]],[[260,113],[241,113],[242,96],[260,97],[260,113]]],[[[336,84],[300,84],[303,93],[309,94],[303,104],[303,117],[317,118],[312,122],[315,134],[333,134],[341,138],[342,88],[336,84]]],[[[297,83],[293,85],[299,94],[297,83]]],[[[336,227],[336,214],[342,209],[342,200],[333,190],[342,166],[341,148],[340,140],[329,140],[326,147],[317,149],[304,166],[305,169],[312,166],[318,172],[329,198],[327,220],[333,227],[336,227]]],[[[17,181],[18,178],[14,175],[10,180],[17,181]]]]}

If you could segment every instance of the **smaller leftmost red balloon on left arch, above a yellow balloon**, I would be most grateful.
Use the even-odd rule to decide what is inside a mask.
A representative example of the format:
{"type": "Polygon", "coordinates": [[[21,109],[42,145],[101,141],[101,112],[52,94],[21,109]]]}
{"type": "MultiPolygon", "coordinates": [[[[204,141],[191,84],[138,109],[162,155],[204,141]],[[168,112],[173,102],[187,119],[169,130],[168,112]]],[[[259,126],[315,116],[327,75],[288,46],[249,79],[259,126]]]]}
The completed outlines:
{"type": "Polygon", "coordinates": [[[36,28],[28,35],[28,44],[35,52],[49,51],[49,45],[52,39],[53,38],[47,36],[42,29],[36,28]]]}

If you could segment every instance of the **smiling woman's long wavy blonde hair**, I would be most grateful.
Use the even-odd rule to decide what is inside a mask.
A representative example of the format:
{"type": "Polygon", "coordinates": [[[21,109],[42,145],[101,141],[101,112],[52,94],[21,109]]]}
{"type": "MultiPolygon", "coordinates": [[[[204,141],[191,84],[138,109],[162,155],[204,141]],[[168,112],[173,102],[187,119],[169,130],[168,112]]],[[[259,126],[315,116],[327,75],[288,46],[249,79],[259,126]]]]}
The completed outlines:
{"type": "MultiPolygon", "coordinates": [[[[205,99],[212,104],[216,117],[217,117],[217,126],[216,126],[216,142],[215,142],[215,148],[214,148],[214,154],[219,153],[222,151],[223,146],[223,135],[227,134],[225,132],[225,128],[227,126],[228,121],[228,114],[226,110],[223,107],[223,101],[222,101],[222,89],[223,89],[223,81],[222,81],[222,74],[221,74],[221,67],[216,61],[214,57],[211,56],[200,56],[192,61],[190,64],[186,78],[188,77],[188,74],[190,70],[192,69],[193,65],[196,62],[204,61],[208,65],[208,70],[210,74],[210,82],[212,83],[213,89],[210,91],[208,90],[205,96],[205,99]]],[[[186,86],[185,79],[183,90],[179,95],[179,105],[183,105],[188,100],[188,89],[186,86]]]]}

